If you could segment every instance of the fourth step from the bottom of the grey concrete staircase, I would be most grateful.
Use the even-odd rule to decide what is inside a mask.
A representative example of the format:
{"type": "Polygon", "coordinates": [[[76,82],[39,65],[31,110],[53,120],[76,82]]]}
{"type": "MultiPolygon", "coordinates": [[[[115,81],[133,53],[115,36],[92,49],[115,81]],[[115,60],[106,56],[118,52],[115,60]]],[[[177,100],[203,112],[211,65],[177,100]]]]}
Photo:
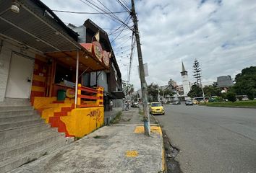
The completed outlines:
{"type": "Polygon", "coordinates": [[[39,133],[40,131],[46,130],[50,127],[51,125],[49,124],[39,123],[21,128],[14,128],[12,130],[2,130],[0,131],[0,141],[4,140],[4,138],[18,138],[19,136],[24,135],[24,133],[39,133]]]}

